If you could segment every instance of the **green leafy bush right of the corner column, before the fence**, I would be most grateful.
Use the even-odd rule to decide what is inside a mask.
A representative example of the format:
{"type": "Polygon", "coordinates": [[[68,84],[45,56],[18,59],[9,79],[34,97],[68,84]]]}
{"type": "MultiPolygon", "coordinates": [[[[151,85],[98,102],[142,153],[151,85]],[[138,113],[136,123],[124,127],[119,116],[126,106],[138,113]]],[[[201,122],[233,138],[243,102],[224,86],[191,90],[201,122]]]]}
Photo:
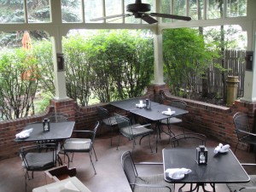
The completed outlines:
{"type": "Polygon", "coordinates": [[[189,28],[168,29],[163,32],[163,55],[167,83],[178,96],[180,89],[190,90],[194,77],[200,76],[209,66],[215,52],[209,49],[198,30],[189,28]]]}

